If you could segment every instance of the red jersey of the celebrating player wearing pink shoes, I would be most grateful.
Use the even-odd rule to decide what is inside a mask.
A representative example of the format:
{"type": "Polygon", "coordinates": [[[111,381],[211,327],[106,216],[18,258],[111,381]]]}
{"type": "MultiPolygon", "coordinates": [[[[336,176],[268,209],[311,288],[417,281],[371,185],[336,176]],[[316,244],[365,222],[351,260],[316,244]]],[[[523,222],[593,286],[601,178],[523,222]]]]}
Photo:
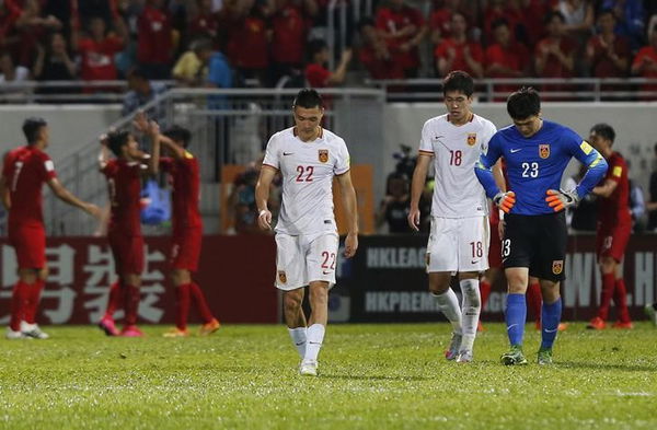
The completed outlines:
{"type": "Polygon", "coordinates": [[[110,191],[110,229],[141,234],[141,163],[125,160],[111,160],[103,168],[110,191]]]}

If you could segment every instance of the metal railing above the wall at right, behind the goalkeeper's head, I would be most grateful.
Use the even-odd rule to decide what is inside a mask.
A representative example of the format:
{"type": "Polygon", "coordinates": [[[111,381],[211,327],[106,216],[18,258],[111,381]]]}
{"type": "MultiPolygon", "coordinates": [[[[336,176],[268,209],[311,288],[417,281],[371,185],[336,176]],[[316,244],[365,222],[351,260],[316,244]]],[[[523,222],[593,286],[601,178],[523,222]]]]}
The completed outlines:
{"type": "MultiPolygon", "coordinates": [[[[389,102],[440,102],[441,79],[366,80],[371,88],[385,91],[389,102]]],[[[657,79],[648,78],[497,78],[475,80],[480,101],[506,101],[510,92],[526,85],[537,88],[544,101],[626,102],[657,100],[657,79]],[[649,90],[646,90],[649,88],[649,90]]]]}

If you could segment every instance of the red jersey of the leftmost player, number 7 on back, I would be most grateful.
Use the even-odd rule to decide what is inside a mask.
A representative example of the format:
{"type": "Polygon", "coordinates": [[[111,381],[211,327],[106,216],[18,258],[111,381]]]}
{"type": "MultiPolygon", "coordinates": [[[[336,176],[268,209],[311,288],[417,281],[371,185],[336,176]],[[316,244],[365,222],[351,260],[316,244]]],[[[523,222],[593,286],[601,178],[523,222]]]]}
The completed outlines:
{"type": "Polygon", "coordinates": [[[42,188],[57,176],[48,154],[30,146],[16,148],[7,154],[2,176],[11,197],[9,223],[43,225],[42,188]]]}

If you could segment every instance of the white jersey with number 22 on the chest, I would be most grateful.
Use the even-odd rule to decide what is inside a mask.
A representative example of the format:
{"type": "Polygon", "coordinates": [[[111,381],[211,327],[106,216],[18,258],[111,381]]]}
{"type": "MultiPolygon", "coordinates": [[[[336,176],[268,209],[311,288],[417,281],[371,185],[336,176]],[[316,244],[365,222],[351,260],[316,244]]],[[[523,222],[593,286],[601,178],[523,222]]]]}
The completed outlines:
{"type": "Polygon", "coordinates": [[[263,164],[283,174],[283,205],[276,232],[290,235],[336,231],[333,214],[333,177],[349,170],[345,141],[321,129],[304,142],[288,128],[272,136],[263,164]]]}

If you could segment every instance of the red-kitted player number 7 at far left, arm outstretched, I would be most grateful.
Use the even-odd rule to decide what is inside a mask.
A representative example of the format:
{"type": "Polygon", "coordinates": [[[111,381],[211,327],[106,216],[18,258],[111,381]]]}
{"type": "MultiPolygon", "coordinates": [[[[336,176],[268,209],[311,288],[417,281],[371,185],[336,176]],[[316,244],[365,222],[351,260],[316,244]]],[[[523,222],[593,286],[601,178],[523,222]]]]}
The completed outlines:
{"type": "Polygon", "coordinates": [[[99,217],[100,209],[69,193],[57,181],[53,161],[44,152],[49,143],[48,125],[43,118],[23,123],[25,147],[9,152],[0,176],[0,196],[9,211],[9,242],[19,263],[19,281],[13,288],[8,339],[48,337],[36,324],[41,292],[48,277],[46,230],[43,218],[43,184],[71,206],[99,217]]]}

